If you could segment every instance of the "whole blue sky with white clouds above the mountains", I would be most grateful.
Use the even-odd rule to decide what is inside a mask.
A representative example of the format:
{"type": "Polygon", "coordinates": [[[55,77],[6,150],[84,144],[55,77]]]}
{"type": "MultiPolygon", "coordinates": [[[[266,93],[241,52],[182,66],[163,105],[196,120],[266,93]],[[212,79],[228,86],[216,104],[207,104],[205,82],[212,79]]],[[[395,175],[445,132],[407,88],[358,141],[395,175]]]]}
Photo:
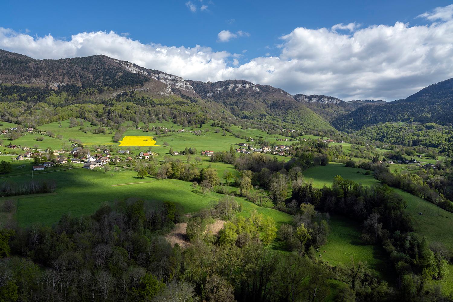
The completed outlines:
{"type": "Polygon", "coordinates": [[[185,79],[393,101],[453,77],[448,1],[10,1],[0,48],[105,54],[185,79]]]}

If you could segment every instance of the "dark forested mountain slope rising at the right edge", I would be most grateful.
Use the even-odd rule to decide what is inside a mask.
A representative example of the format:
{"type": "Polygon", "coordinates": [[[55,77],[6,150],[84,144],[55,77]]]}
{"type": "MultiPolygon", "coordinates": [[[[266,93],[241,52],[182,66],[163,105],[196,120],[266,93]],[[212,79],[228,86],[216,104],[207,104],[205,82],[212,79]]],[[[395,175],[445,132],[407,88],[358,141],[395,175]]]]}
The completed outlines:
{"type": "Polygon", "coordinates": [[[332,125],[352,132],[386,122],[414,121],[452,125],[453,78],[430,85],[403,100],[386,104],[368,104],[338,116],[332,125]]]}

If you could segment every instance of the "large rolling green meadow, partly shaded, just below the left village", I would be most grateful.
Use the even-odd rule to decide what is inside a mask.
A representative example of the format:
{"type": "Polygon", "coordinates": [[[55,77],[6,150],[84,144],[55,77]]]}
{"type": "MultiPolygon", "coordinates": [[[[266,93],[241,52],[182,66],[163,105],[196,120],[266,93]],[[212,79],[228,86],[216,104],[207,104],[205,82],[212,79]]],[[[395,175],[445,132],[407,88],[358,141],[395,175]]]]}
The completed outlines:
{"type": "MultiPolygon", "coordinates": [[[[17,182],[31,179],[31,175],[0,179],[0,182],[17,182]]],[[[104,173],[101,170],[87,171],[75,168],[55,173],[40,173],[34,179],[53,179],[57,183],[55,194],[34,195],[17,198],[16,218],[21,226],[35,221],[43,225],[56,223],[61,215],[71,213],[75,216],[89,215],[104,201],[115,201],[129,197],[147,201],[173,201],[181,206],[185,213],[199,211],[214,205],[223,195],[215,192],[202,194],[194,190],[190,182],[174,179],[156,180],[136,177],[136,172],[122,171],[104,173]],[[70,183],[71,186],[67,186],[70,183]],[[133,183],[124,186],[116,184],[133,183]]],[[[8,197],[1,197],[0,202],[8,197]]],[[[269,208],[238,199],[242,202],[244,213],[257,210],[275,218],[278,224],[290,221],[290,216],[269,208]]]]}

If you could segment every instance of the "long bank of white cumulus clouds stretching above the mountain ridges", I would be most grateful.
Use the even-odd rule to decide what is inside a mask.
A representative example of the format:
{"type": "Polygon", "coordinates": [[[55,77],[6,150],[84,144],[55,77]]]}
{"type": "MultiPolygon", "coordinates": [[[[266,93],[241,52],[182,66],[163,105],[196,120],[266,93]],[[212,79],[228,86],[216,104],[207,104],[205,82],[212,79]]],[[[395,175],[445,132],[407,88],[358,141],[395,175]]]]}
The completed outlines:
{"type": "MultiPolygon", "coordinates": [[[[243,62],[237,54],[209,47],[144,44],[101,31],[63,40],[0,28],[0,48],[32,58],[105,54],[193,80],[245,79],[292,94],[391,101],[453,77],[453,19],[445,13],[449,9],[422,14],[426,24],[417,26],[396,22],[360,28],[357,24],[296,28],[280,37],[276,56],[243,62]]],[[[246,33],[225,30],[218,39],[226,42],[239,36],[246,33]]]]}

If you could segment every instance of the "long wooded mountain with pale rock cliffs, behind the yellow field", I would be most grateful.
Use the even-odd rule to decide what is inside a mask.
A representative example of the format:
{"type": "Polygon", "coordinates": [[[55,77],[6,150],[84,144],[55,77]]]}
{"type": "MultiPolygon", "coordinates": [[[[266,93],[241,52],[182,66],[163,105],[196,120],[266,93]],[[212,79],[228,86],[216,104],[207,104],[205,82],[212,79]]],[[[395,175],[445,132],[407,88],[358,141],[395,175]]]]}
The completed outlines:
{"type": "MultiPolygon", "coordinates": [[[[270,129],[303,126],[305,129],[333,130],[323,117],[279,88],[244,80],[185,80],[104,55],[37,60],[0,50],[1,83],[14,86],[0,85],[0,102],[16,99],[62,106],[128,101],[141,106],[164,105],[167,110],[172,105],[173,113],[165,116],[175,115],[179,120],[186,120],[182,115],[190,111],[192,115],[205,115],[197,121],[228,115],[229,122],[234,116],[241,120],[240,123],[249,122],[270,129]],[[57,95],[58,101],[53,95],[57,95]]],[[[156,115],[162,113],[156,112],[156,115]]]]}

